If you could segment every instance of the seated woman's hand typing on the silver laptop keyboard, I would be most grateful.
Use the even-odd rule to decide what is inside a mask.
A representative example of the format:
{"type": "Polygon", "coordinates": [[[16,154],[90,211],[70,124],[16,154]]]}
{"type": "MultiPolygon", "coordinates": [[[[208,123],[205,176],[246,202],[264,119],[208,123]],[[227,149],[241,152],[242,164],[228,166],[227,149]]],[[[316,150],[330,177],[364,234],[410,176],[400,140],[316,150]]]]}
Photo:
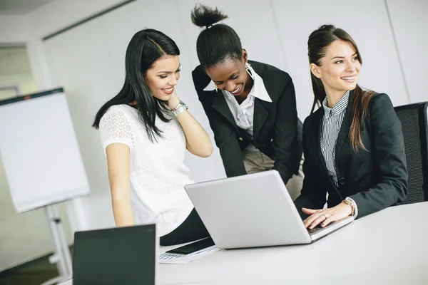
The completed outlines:
{"type": "Polygon", "coordinates": [[[335,207],[327,209],[306,209],[302,208],[305,214],[310,214],[305,221],[305,227],[313,229],[321,224],[321,227],[327,226],[331,222],[336,222],[340,219],[344,219],[352,214],[352,207],[349,204],[340,203],[335,207]]]}

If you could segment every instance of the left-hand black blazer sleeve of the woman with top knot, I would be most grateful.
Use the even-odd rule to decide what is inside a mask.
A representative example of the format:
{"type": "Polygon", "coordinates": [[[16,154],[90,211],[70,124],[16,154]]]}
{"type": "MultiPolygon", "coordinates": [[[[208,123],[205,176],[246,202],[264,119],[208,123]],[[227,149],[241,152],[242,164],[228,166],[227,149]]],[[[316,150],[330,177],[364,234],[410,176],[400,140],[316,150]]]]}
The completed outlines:
{"type": "Polygon", "coordinates": [[[211,107],[212,98],[206,98],[210,94],[204,94],[203,88],[208,86],[210,78],[203,73],[200,66],[192,72],[192,77],[200,103],[203,105],[211,130],[213,130],[215,145],[220,150],[226,175],[228,177],[246,175],[243,155],[233,126],[223,118],[223,115],[211,107]]]}

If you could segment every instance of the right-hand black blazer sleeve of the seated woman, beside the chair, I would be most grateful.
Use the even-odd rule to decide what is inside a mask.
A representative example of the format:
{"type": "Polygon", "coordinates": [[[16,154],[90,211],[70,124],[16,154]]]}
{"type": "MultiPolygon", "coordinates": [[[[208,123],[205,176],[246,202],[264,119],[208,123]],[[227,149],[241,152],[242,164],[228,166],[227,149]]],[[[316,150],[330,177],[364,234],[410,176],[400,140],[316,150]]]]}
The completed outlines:
{"type": "Polygon", "coordinates": [[[386,94],[374,95],[370,102],[370,128],[374,170],[377,185],[350,196],[358,208],[358,216],[377,212],[407,196],[407,163],[402,125],[386,94]]]}

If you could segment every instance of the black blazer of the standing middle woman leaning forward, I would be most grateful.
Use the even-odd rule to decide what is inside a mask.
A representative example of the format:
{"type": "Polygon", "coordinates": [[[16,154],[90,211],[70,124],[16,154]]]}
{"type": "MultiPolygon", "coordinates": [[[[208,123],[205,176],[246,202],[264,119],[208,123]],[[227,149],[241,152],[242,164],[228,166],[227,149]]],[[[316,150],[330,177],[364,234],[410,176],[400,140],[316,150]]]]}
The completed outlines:
{"type": "Polygon", "coordinates": [[[297,118],[295,89],[290,76],[274,66],[249,61],[263,83],[272,103],[255,98],[253,137],[238,128],[223,93],[204,91],[211,79],[197,66],[192,73],[193,83],[202,103],[215,143],[220,150],[228,177],[245,175],[243,150],[250,142],[275,161],[273,169],[287,181],[296,174],[302,157],[302,123],[297,118]],[[298,134],[300,139],[298,139],[298,134]]]}

